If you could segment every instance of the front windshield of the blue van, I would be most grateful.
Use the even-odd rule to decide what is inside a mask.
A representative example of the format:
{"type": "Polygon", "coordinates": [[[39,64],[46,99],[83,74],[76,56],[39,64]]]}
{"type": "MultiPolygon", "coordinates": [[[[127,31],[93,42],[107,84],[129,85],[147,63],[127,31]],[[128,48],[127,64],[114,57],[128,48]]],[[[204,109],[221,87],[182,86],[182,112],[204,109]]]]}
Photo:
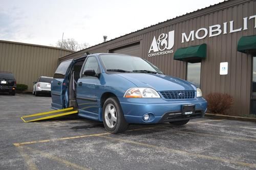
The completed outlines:
{"type": "Polygon", "coordinates": [[[163,74],[155,65],[140,57],[103,54],[100,55],[100,59],[106,71],[163,74]]]}

